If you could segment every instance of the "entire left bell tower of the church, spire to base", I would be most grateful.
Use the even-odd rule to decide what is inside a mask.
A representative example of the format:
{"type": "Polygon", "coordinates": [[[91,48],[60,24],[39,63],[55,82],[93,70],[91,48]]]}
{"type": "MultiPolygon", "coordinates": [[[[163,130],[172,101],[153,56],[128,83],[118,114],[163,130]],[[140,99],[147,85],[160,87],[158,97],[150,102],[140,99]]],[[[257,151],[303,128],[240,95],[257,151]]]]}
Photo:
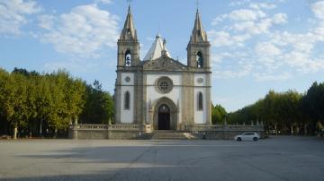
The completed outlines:
{"type": "Polygon", "coordinates": [[[114,119],[117,124],[139,124],[141,116],[138,102],[141,90],[139,40],[134,26],[130,5],[126,21],[117,42],[117,78],[114,90],[114,119]]]}

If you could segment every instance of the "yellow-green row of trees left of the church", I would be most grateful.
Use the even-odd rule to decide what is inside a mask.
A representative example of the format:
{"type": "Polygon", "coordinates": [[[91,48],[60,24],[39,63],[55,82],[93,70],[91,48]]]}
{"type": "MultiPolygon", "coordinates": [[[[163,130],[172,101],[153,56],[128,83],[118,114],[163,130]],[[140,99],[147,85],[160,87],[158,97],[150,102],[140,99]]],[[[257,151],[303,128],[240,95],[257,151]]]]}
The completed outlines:
{"type": "Polygon", "coordinates": [[[0,134],[66,134],[77,120],[103,123],[112,114],[112,96],[97,81],[87,85],[61,70],[41,74],[0,69],[0,134]]]}

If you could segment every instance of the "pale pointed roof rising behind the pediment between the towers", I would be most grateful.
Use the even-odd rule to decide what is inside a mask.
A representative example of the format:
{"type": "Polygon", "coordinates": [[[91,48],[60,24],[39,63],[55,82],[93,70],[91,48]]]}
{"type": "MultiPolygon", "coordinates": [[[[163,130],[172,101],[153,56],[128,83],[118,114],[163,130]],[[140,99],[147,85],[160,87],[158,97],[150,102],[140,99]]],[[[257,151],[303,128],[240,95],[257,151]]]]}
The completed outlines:
{"type": "Polygon", "coordinates": [[[164,40],[162,40],[159,33],[157,33],[156,39],[152,44],[152,47],[149,48],[148,54],[144,57],[145,60],[152,60],[162,56],[162,50],[166,51],[166,56],[171,57],[168,51],[166,50],[166,45],[164,40]]]}

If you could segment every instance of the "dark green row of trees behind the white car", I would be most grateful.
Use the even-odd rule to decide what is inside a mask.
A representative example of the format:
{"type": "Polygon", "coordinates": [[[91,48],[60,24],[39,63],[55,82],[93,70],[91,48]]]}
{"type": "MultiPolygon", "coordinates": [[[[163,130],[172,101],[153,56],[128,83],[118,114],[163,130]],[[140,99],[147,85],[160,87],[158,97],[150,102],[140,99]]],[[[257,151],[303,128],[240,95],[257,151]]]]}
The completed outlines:
{"type": "Polygon", "coordinates": [[[257,120],[275,133],[316,134],[324,122],[324,82],[314,82],[305,94],[270,90],[264,99],[228,115],[231,124],[257,120]]]}

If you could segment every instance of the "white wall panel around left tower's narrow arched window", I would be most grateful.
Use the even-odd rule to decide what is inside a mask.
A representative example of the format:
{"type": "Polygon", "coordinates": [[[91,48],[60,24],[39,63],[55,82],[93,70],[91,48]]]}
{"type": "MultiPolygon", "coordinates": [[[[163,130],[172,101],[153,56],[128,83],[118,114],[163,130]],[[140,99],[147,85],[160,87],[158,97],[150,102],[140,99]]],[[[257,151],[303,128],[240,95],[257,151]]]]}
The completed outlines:
{"type": "Polygon", "coordinates": [[[134,121],[134,73],[121,73],[121,123],[132,124],[134,121]],[[130,82],[125,78],[129,76],[130,82]],[[125,92],[130,92],[130,109],[124,109],[125,92]]]}

